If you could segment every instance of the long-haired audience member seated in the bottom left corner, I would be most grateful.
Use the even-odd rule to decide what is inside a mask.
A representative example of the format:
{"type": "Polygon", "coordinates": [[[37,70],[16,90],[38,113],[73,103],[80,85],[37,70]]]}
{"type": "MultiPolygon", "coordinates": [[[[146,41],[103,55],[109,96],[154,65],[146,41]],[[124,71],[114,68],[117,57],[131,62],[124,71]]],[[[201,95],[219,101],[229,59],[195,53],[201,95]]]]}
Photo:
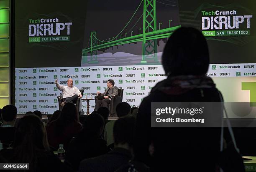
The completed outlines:
{"type": "Polygon", "coordinates": [[[3,149],[0,155],[9,163],[29,163],[30,172],[71,171],[49,151],[45,127],[36,115],[19,120],[13,149],[3,149]]]}

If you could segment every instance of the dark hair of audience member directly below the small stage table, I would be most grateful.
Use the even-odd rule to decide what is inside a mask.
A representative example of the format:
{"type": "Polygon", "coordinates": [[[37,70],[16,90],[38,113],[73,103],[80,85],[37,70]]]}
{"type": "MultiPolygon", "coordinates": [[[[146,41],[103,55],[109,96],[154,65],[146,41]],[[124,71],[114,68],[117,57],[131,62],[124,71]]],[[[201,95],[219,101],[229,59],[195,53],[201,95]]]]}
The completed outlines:
{"type": "Polygon", "coordinates": [[[103,117],[94,112],[87,116],[84,121],[82,132],[80,132],[78,139],[80,140],[90,140],[92,138],[100,137],[100,128],[104,127],[105,122],[103,117]]]}

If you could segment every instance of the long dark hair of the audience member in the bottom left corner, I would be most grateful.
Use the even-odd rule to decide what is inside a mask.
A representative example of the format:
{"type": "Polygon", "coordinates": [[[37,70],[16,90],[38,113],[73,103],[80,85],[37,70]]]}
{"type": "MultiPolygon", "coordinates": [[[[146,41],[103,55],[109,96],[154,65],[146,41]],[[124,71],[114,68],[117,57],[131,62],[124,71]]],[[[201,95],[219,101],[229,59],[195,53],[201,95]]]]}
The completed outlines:
{"type": "Polygon", "coordinates": [[[43,122],[36,115],[27,115],[18,122],[12,160],[29,163],[29,170],[35,171],[37,155],[49,151],[47,134],[43,122]]]}

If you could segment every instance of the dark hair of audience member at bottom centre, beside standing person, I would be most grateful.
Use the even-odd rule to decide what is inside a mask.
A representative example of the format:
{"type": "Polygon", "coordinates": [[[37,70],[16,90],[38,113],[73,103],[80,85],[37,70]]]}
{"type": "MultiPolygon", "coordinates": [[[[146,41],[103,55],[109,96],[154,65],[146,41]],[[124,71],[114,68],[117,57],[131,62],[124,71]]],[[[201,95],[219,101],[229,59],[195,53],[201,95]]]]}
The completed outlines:
{"type": "Polygon", "coordinates": [[[115,144],[128,143],[129,146],[133,146],[133,140],[135,135],[135,118],[133,116],[127,116],[116,120],[113,127],[113,135],[115,144]]]}

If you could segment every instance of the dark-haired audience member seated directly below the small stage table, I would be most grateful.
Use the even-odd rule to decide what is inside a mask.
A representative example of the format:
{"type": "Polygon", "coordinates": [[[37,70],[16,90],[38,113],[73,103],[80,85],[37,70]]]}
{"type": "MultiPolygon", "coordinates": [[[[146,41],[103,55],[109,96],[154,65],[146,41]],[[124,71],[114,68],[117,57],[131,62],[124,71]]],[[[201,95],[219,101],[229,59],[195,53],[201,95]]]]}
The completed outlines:
{"type": "Polygon", "coordinates": [[[82,160],[108,152],[105,140],[100,139],[103,127],[104,119],[100,114],[88,115],[82,132],[72,139],[67,151],[66,160],[72,165],[73,170],[78,170],[82,160]]]}

